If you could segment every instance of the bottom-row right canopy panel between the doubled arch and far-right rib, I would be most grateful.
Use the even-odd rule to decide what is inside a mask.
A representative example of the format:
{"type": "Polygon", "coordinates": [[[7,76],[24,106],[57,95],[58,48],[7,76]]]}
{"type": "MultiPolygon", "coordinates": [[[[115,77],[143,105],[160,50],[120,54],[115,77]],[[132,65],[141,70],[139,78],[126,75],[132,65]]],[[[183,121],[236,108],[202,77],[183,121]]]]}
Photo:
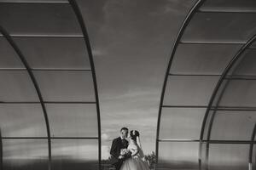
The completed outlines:
{"type": "Polygon", "coordinates": [[[210,144],[209,170],[247,170],[249,144],[210,144]]]}

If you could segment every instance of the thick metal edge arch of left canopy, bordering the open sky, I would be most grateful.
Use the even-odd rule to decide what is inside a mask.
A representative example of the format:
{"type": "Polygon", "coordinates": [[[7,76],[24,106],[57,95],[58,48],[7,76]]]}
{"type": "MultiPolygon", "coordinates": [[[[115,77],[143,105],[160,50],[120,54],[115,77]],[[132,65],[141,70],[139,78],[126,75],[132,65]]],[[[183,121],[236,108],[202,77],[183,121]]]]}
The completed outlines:
{"type": "Polygon", "coordinates": [[[73,8],[74,13],[77,16],[77,19],[79,20],[79,25],[81,27],[81,30],[83,32],[84,35],[84,42],[87,48],[87,52],[89,55],[89,59],[90,59],[90,68],[91,68],[91,75],[93,78],[93,84],[94,84],[94,91],[95,91],[95,98],[96,98],[96,111],[97,111],[97,118],[98,118],[98,144],[99,144],[99,169],[102,169],[102,139],[101,139],[101,115],[100,115],[100,105],[99,105],[99,96],[98,96],[98,89],[97,89],[97,83],[96,83],[96,71],[95,71],[95,65],[94,65],[94,61],[93,61],[93,54],[92,54],[92,50],[90,47],[90,40],[89,40],[89,35],[88,35],[88,31],[86,29],[85,23],[84,23],[84,19],[83,19],[83,15],[80,11],[79,5],[76,2],[76,0],[68,0],[68,2],[70,3],[70,5],[73,8]]]}

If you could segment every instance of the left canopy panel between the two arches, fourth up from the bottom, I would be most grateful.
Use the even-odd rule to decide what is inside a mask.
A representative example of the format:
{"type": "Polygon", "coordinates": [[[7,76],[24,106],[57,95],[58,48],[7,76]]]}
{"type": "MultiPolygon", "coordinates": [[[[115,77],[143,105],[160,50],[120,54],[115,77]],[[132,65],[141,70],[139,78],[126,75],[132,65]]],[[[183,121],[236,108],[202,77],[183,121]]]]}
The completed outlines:
{"type": "Polygon", "coordinates": [[[79,37],[15,37],[33,69],[90,69],[84,43],[79,37]]]}

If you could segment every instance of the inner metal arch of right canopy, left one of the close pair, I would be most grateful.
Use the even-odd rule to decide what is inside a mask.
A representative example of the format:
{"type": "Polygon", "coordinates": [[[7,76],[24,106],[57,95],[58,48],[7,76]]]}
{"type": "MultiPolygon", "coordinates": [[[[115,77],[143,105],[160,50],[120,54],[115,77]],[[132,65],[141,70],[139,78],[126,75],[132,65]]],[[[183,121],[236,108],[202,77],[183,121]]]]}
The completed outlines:
{"type": "MultiPolygon", "coordinates": [[[[256,35],[254,35],[253,37],[251,37],[239,50],[238,52],[236,53],[236,55],[233,57],[233,59],[230,60],[230,63],[226,66],[226,68],[224,69],[221,77],[218,79],[218,82],[212,92],[212,96],[211,96],[211,99],[208,103],[208,106],[207,106],[207,111],[205,113],[205,116],[204,116],[204,119],[203,119],[203,122],[202,122],[202,125],[201,125],[201,136],[200,136],[200,162],[201,162],[201,151],[202,151],[202,144],[203,144],[203,136],[204,136],[204,132],[205,132],[205,127],[206,127],[206,124],[207,124],[207,118],[209,116],[209,112],[211,111],[211,108],[212,108],[212,103],[216,97],[216,95],[218,94],[218,89],[221,87],[222,85],[222,82],[224,81],[224,78],[227,76],[227,74],[229,73],[230,69],[232,68],[233,65],[236,64],[236,61],[238,59],[240,59],[241,57],[241,54],[243,54],[243,52],[247,49],[247,47],[249,47],[253,42],[254,40],[256,39],[256,35]]],[[[201,166],[201,164],[200,164],[201,166]]],[[[201,167],[200,167],[201,169],[201,167]]]]}

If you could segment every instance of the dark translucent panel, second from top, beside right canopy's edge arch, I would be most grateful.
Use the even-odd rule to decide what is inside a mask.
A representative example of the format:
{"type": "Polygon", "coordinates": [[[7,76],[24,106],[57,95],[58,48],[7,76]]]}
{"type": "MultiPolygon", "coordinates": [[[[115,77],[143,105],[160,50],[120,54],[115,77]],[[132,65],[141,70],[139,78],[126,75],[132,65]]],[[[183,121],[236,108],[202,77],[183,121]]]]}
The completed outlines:
{"type": "Polygon", "coordinates": [[[183,42],[247,42],[256,33],[256,14],[197,13],[183,42]]]}

